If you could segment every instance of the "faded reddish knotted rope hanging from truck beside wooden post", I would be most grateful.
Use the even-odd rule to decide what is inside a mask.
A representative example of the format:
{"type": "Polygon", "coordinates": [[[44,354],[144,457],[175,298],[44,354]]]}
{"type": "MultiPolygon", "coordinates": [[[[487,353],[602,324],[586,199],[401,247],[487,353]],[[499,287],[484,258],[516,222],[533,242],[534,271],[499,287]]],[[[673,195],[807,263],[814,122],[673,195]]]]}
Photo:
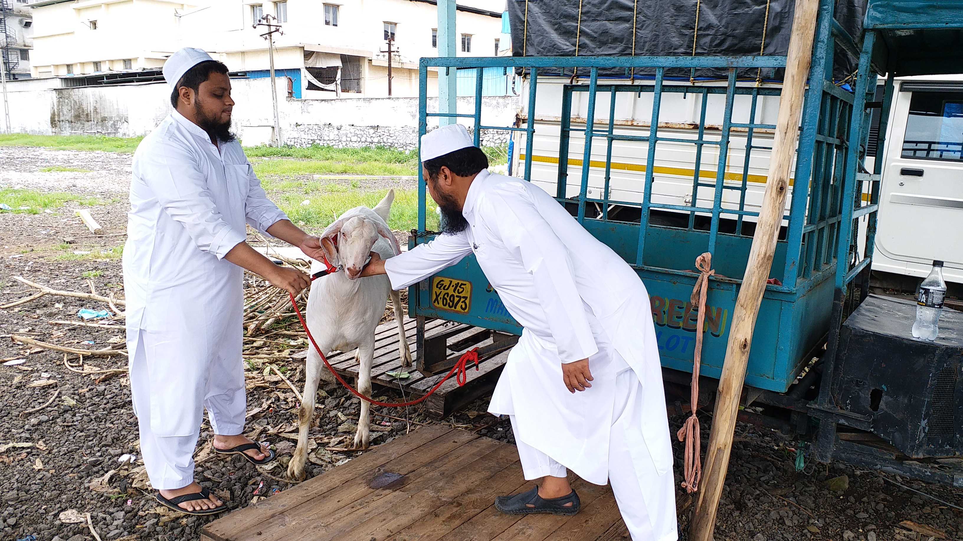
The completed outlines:
{"type": "Polygon", "coordinates": [[[702,477],[702,440],[699,439],[699,418],[695,410],[699,407],[699,366],[702,364],[702,335],[705,332],[706,295],[709,293],[709,277],[716,273],[713,270],[713,255],[704,253],[695,258],[695,268],[699,270],[699,277],[692,288],[690,302],[697,307],[695,324],[695,353],[692,356],[692,384],[690,395],[691,415],[685,425],[679,428],[679,441],[685,444],[686,461],[683,488],[689,494],[699,490],[699,478],[702,477]]]}

